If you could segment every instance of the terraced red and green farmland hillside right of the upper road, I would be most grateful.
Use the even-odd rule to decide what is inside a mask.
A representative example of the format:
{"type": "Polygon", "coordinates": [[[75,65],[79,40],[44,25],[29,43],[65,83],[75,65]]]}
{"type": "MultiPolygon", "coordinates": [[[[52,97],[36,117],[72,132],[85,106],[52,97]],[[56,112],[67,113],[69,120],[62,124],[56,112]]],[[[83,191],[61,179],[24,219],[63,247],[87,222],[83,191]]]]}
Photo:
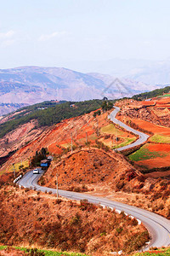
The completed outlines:
{"type": "Polygon", "coordinates": [[[168,177],[170,171],[170,96],[158,96],[152,101],[124,100],[118,119],[150,135],[148,142],[129,155],[141,172],[156,172],[153,177],[168,177]],[[159,172],[160,174],[159,174],[159,172]]]}

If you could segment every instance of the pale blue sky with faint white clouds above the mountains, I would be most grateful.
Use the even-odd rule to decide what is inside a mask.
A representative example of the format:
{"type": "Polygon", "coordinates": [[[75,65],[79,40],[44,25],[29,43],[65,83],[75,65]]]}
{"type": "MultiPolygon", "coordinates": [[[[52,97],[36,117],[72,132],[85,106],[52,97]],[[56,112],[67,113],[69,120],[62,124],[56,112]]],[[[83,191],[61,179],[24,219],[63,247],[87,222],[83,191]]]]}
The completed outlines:
{"type": "Polygon", "coordinates": [[[0,68],[170,57],[169,0],[0,2],[0,68]]]}

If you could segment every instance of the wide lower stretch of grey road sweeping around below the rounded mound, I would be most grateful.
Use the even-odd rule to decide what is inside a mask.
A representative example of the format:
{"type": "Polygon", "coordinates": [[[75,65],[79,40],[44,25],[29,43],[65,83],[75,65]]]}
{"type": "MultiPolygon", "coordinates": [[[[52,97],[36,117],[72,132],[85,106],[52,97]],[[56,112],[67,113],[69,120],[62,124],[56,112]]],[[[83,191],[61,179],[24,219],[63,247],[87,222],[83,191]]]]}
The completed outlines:
{"type": "MultiPolygon", "coordinates": [[[[40,174],[33,174],[32,171],[27,172],[26,175],[20,179],[18,184],[25,188],[35,188],[42,192],[51,191],[53,194],[56,194],[56,189],[42,187],[37,184],[37,180],[41,177],[42,173],[42,171],[40,171],[40,174]]],[[[116,210],[124,211],[128,215],[132,215],[133,217],[141,220],[144,226],[149,230],[151,236],[150,244],[148,247],[144,247],[144,250],[147,250],[149,247],[167,247],[170,245],[170,220],[163,218],[156,213],[148,212],[138,207],[128,206],[120,202],[111,201],[105,197],[98,197],[61,189],[59,189],[59,195],[71,200],[79,201],[87,199],[89,202],[96,205],[100,204],[105,207],[116,208],[116,210]]]]}

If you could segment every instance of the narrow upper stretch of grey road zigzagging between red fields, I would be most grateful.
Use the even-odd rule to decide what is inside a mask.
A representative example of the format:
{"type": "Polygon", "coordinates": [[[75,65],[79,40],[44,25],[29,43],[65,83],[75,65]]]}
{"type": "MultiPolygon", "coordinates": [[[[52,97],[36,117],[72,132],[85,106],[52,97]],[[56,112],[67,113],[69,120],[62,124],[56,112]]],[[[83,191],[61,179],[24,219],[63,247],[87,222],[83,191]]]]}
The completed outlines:
{"type": "Polygon", "coordinates": [[[139,136],[139,139],[136,142],[134,142],[132,144],[129,144],[127,146],[124,146],[122,148],[116,148],[116,150],[117,151],[122,151],[122,150],[125,150],[127,148],[133,148],[135,146],[139,146],[142,143],[145,143],[150,136],[147,135],[147,134],[144,134],[141,131],[136,131],[133,128],[129,127],[128,125],[125,125],[121,121],[117,120],[116,119],[116,113],[118,113],[120,111],[120,108],[115,107],[115,106],[114,106],[114,108],[115,109],[111,112],[111,114],[108,116],[108,118],[111,119],[111,121],[113,123],[115,123],[116,125],[120,125],[120,126],[122,126],[122,128],[126,129],[127,131],[132,131],[134,134],[139,136]]]}

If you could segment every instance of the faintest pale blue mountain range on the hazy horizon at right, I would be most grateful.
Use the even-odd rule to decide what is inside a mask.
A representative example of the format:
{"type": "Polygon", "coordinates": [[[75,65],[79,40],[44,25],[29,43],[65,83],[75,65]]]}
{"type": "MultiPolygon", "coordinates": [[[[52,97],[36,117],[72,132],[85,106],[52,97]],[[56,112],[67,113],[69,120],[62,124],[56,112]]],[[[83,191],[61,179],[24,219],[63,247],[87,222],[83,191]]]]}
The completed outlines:
{"type": "Polygon", "coordinates": [[[170,83],[170,58],[164,61],[116,58],[105,61],[72,61],[65,65],[78,71],[109,73],[111,76],[132,79],[145,84],[170,83]]]}

